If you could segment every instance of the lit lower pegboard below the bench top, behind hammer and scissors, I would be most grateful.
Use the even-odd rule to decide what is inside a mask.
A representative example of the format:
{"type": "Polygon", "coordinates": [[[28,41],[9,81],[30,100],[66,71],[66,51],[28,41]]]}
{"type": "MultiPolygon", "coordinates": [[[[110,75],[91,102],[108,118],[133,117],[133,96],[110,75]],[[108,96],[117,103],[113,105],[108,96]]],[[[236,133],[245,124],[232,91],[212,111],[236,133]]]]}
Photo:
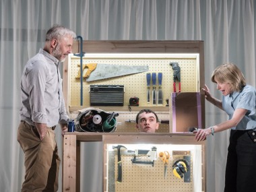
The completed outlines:
{"type": "MultiPolygon", "coordinates": [[[[181,146],[179,146],[180,148],[181,146]]],[[[195,158],[195,149],[193,146],[189,146],[190,150],[174,150],[175,145],[158,146],[157,158],[152,164],[135,164],[132,163],[133,155],[129,155],[127,152],[121,151],[121,163],[122,163],[122,182],[117,182],[117,152],[108,151],[108,192],[155,192],[155,191],[168,191],[168,192],[191,192],[195,191],[195,181],[193,179],[194,174],[200,174],[201,170],[194,170],[193,164],[197,163],[195,158]],[[167,175],[164,179],[164,162],[159,158],[159,153],[167,150],[170,154],[170,160],[168,162],[167,175]],[[114,156],[114,157],[113,157],[114,156]],[[179,179],[175,177],[172,172],[172,165],[178,159],[184,159],[189,157],[189,169],[190,181],[185,182],[184,178],[179,179]],[[113,181],[115,180],[115,181],[113,181]]],[[[198,157],[197,157],[198,158],[198,157]]],[[[150,161],[147,156],[138,156],[139,161],[150,161]]],[[[200,162],[200,161],[199,161],[200,162]]],[[[185,175],[185,174],[184,174],[185,175]]],[[[198,184],[198,183],[197,183],[198,184]]]]}

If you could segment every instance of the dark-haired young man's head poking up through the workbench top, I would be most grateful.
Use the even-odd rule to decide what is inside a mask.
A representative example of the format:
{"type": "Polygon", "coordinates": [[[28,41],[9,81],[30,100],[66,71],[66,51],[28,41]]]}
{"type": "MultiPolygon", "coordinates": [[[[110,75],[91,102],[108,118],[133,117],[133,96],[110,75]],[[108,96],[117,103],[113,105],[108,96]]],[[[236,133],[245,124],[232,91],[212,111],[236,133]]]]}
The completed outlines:
{"type": "Polygon", "coordinates": [[[139,132],[154,133],[158,127],[158,116],[150,109],[142,109],[136,116],[136,128],[139,132]]]}

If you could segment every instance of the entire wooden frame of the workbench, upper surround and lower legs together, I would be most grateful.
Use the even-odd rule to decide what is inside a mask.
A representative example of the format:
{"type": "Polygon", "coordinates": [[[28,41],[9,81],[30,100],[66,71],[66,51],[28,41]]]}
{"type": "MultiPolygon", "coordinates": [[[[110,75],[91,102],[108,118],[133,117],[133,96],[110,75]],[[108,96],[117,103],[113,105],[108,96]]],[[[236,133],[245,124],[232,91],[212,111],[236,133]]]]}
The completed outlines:
{"type": "MultiPolygon", "coordinates": [[[[170,41],[170,40],[86,40],[83,42],[85,53],[199,53],[199,92],[201,95],[201,126],[205,127],[205,99],[201,88],[205,85],[203,41],[170,41]]],[[[73,53],[79,53],[79,42],[73,44],[73,53]]],[[[63,94],[67,112],[82,109],[85,106],[69,107],[68,61],[63,63],[63,94]]],[[[116,109],[115,109],[116,110],[116,109]]],[[[154,110],[154,107],[152,107],[154,110]]],[[[165,109],[164,109],[165,111],[165,109]]],[[[202,146],[202,191],[206,190],[205,141],[196,142],[193,133],[65,133],[63,141],[63,191],[79,191],[80,143],[82,141],[102,141],[106,143],[174,143],[181,145],[202,146]]],[[[106,162],[106,151],[102,148],[103,161],[106,162]]],[[[106,167],[102,182],[102,191],[106,189],[106,167]]]]}

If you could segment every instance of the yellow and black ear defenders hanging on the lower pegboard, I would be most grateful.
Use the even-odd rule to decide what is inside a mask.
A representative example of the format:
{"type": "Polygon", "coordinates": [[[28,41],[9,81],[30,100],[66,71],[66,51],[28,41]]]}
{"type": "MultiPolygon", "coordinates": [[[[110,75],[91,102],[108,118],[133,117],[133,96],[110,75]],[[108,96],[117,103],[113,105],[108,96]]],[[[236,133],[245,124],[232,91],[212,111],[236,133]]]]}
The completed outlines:
{"type": "Polygon", "coordinates": [[[189,162],[185,159],[179,159],[172,165],[172,172],[179,179],[183,179],[183,174],[187,171],[189,171],[189,162]]]}

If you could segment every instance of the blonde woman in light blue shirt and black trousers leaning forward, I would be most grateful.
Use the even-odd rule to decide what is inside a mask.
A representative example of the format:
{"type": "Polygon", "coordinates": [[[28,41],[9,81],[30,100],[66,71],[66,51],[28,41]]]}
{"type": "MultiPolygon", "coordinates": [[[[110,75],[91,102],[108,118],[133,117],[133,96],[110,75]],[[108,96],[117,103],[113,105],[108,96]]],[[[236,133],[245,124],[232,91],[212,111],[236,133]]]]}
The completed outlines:
{"type": "Polygon", "coordinates": [[[222,100],[214,98],[205,86],[205,98],[228,114],[228,121],[195,135],[197,141],[207,135],[231,129],[224,191],[255,191],[256,181],[256,90],[245,82],[245,77],[236,65],[226,63],[212,73],[212,82],[222,92],[222,100]]]}

